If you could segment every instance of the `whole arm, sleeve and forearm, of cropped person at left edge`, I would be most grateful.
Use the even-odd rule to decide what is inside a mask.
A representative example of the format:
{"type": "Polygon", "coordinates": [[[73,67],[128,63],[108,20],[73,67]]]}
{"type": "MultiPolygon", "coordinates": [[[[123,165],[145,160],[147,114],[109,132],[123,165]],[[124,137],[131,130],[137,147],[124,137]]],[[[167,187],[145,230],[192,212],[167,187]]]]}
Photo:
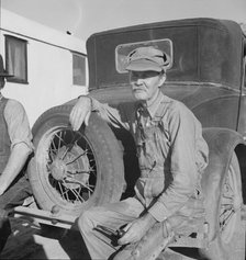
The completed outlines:
{"type": "Polygon", "coordinates": [[[11,154],[0,176],[0,195],[9,188],[22,170],[29,155],[33,151],[32,133],[24,108],[14,100],[9,100],[4,118],[11,140],[11,154]]]}

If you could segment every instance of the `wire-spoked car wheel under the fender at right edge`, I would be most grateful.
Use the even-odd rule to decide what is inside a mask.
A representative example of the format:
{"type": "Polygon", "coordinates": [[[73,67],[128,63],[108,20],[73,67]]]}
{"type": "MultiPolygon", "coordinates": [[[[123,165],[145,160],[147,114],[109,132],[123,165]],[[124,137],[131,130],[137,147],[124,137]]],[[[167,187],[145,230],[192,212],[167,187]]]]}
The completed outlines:
{"type": "Polygon", "coordinates": [[[245,260],[245,223],[241,215],[242,178],[235,152],[221,183],[216,216],[217,235],[208,249],[200,251],[202,256],[212,260],[245,260]]]}

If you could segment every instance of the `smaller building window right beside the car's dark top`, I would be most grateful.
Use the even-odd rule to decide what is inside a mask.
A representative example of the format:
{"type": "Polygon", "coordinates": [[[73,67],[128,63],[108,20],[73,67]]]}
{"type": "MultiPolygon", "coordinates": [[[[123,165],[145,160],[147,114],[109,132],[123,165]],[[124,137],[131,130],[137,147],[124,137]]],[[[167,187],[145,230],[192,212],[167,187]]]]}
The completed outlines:
{"type": "Polygon", "coordinates": [[[86,57],[78,53],[72,53],[72,83],[86,86],[86,57]]]}

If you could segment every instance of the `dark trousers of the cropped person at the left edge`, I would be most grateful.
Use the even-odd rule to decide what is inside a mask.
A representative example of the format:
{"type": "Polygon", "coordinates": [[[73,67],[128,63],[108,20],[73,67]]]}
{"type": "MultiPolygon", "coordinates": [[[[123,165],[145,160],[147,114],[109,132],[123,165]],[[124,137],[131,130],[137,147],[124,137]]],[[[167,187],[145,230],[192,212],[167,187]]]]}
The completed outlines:
{"type": "Polygon", "coordinates": [[[30,195],[32,195],[32,190],[26,176],[18,177],[10,188],[0,195],[0,252],[11,234],[8,212],[14,206],[22,205],[24,200],[30,195]]]}

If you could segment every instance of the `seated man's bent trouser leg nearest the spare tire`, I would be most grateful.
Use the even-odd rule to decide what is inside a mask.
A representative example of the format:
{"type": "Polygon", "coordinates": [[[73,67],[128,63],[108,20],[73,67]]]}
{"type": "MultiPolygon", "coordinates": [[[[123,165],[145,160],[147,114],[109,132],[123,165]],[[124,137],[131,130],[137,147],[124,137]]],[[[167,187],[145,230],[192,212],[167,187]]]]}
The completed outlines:
{"type": "Polygon", "coordinates": [[[78,226],[91,259],[112,259],[121,248],[116,245],[114,231],[136,219],[144,211],[138,200],[128,197],[83,212],[78,226]]]}

